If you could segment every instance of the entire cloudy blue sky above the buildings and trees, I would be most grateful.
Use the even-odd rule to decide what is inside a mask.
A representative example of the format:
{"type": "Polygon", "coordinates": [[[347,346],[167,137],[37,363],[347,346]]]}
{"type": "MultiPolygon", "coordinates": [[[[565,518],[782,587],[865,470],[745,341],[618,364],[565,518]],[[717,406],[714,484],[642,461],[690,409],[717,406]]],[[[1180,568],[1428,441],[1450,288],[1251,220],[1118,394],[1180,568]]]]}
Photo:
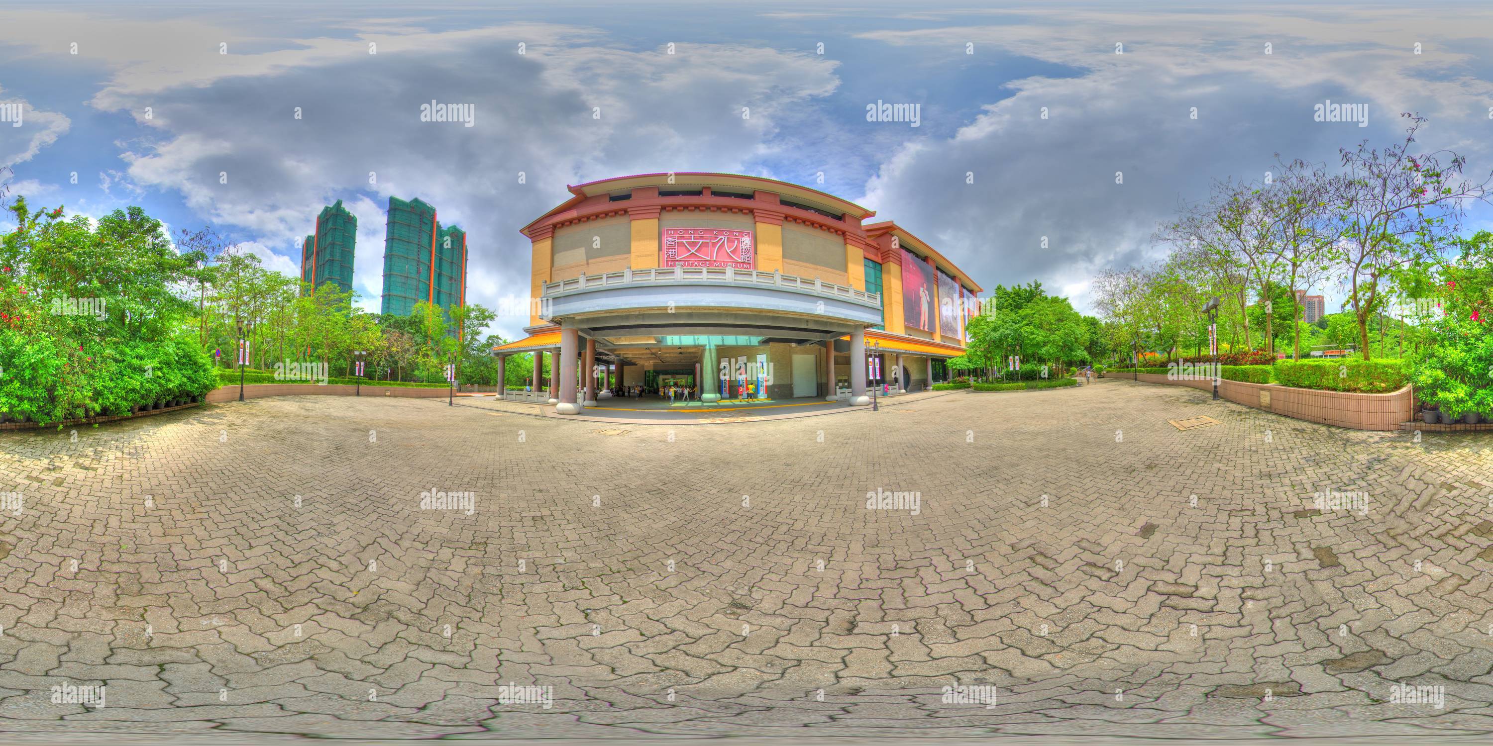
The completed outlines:
{"type": "Polygon", "coordinates": [[[567,184],[670,170],[817,186],[985,288],[1038,279],[1087,309],[1096,272],[1162,252],[1181,200],[1277,154],[1335,164],[1420,112],[1423,145],[1493,170],[1489,4],[990,6],[6,3],[0,113],[21,121],[0,116],[0,164],[33,204],[140,204],[287,273],[340,198],[370,310],[390,195],[467,230],[467,298],[494,309],[527,294],[518,228],[567,184]],[[433,100],[473,125],[421,122],[433,100]],[[1312,121],[1324,100],[1368,125],[1312,121]],[[921,104],[918,125],[867,122],[875,101],[921,104]]]}

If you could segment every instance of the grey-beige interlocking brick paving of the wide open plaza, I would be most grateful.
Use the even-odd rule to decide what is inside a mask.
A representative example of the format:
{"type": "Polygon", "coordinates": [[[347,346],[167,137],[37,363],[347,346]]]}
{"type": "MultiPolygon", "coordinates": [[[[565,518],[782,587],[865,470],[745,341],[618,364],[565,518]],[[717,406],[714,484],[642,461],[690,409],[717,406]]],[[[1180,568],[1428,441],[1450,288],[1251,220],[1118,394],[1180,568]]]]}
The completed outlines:
{"type": "Polygon", "coordinates": [[[529,412],[284,397],[0,434],[0,728],[1493,733],[1474,436],[1127,380],[678,428],[529,412]]]}

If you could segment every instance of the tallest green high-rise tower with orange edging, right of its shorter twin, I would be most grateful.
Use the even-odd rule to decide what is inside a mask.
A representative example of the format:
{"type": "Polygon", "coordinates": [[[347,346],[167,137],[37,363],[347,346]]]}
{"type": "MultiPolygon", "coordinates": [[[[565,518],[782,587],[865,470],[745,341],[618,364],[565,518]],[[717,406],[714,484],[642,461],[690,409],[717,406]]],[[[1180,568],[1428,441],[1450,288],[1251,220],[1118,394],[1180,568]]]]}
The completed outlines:
{"type": "Polygon", "coordinates": [[[466,231],[442,227],[421,200],[390,197],[379,310],[408,316],[420,301],[446,310],[466,303],[466,231]]]}

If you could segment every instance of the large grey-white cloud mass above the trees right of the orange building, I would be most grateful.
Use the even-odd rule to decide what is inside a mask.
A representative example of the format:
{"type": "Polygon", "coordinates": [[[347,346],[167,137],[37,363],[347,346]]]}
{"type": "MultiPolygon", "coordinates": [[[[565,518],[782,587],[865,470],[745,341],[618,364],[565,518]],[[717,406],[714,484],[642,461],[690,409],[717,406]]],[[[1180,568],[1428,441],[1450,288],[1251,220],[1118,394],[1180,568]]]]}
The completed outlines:
{"type": "Polygon", "coordinates": [[[1418,110],[1432,116],[1426,146],[1454,146],[1487,173],[1493,151],[1481,133],[1493,84],[1474,75],[1469,45],[1486,37],[1493,13],[1451,24],[1362,6],[1280,12],[1290,18],[1044,6],[1014,10],[1017,21],[1002,25],[860,34],[909,64],[972,42],[981,55],[1076,70],[1009,82],[1009,97],[985,103],[953,136],[903,143],[863,200],[987,286],[1041,279],[1087,309],[1088,292],[1076,289],[1099,269],[1162,254],[1151,234],[1179,200],[1203,195],[1212,178],[1259,178],[1277,152],[1336,164],[1341,146],[1402,137],[1397,113],[1418,110]],[[1312,122],[1311,106],[1329,97],[1369,103],[1371,127],[1312,122]]]}

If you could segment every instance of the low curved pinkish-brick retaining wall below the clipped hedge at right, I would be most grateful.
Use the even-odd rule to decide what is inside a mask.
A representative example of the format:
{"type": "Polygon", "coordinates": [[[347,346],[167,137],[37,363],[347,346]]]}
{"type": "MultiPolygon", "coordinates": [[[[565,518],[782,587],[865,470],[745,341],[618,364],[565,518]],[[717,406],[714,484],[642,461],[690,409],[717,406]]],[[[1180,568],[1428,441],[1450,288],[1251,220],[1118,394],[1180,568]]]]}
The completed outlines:
{"type": "MultiPolygon", "coordinates": [[[[1114,377],[1123,380],[1130,376],[1115,373],[1114,377]]],[[[1168,380],[1165,373],[1139,373],[1135,379],[1145,383],[1169,383],[1212,391],[1212,380],[1168,380]]],[[[1280,383],[1220,380],[1218,397],[1288,418],[1353,430],[1399,430],[1400,422],[1414,418],[1415,409],[1411,386],[1391,394],[1356,394],[1282,386],[1280,383]]]]}

